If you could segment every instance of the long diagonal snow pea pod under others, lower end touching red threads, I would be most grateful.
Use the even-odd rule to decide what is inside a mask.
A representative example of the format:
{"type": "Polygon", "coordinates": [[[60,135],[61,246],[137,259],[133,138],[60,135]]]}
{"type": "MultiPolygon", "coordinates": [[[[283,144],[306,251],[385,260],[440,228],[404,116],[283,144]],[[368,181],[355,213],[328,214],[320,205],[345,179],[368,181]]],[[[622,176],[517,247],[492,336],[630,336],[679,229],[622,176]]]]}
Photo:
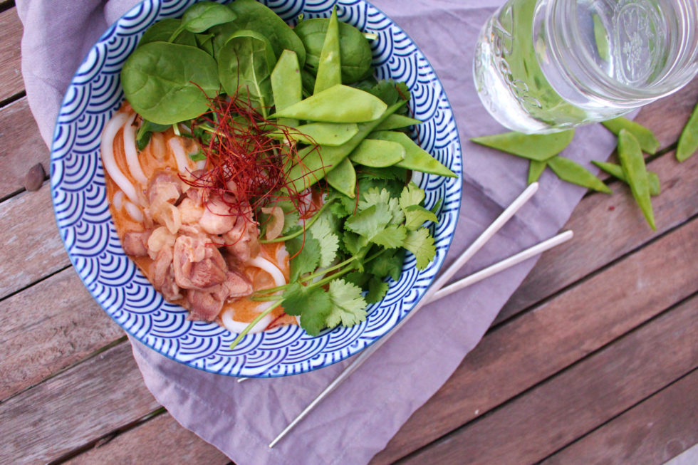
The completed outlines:
{"type": "Polygon", "coordinates": [[[377,120],[358,125],[359,130],[356,135],[338,147],[306,147],[298,152],[301,162],[294,163],[288,172],[288,179],[291,179],[293,189],[296,189],[296,192],[302,192],[323,179],[325,174],[348,157],[377,125],[380,125],[385,118],[395,113],[405,103],[407,102],[402,101],[390,105],[377,120]]]}

